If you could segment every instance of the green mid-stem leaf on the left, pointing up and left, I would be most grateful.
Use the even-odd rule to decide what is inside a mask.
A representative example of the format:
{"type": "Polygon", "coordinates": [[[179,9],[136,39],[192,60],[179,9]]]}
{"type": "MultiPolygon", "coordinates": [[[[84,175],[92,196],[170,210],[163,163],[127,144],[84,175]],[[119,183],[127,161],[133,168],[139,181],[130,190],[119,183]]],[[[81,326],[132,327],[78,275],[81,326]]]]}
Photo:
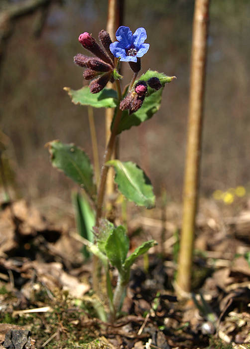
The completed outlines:
{"type": "Polygon", "coordinates": [[[94,197],[96,185],[93,182],[93,168],[86,153],[74,144],[63,144],[58,140],[47,143],[47,146],[52,166],[63,171],[94,197]]]}

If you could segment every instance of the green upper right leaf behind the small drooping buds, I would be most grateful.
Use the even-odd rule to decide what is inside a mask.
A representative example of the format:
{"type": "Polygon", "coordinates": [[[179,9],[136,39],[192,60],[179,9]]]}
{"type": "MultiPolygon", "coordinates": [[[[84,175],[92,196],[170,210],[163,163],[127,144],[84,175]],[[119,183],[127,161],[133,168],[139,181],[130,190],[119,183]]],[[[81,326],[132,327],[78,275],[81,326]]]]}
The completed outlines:
{"type": "MultiPolygon", "coordinates": [[[[157,77],[158,79],[160,79],[163,87],[165,83],[171,82],[173,78],[175,78],[173,76],[167,76],[157,71],[148,70],[145,74],[142,74],[138,80],[147,81],[151,77],[157,77]]],[[[135,83],[138,82],[138,80],[135,81],[135,83]]],[[[141,108],[131,115],[128,114],[127,110],[123,112],[118,133],[121,133],[124,130],[129,130],[132,126],[140,125],[140,123],[150,119],[159,110],[163,87],[158,91],[155,91],[148,86],[147,95],[141,108]]]]}

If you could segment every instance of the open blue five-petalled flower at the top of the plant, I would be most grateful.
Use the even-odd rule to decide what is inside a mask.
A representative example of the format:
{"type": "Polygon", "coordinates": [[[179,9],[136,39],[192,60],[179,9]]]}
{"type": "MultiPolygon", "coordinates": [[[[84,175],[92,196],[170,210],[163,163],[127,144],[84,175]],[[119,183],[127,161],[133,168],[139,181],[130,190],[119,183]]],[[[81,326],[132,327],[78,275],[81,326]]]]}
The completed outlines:
{"type": "Polygon", "coordinates": [[[118,41],[110,44],[110,50],[115,57],[121,57],[124,62],[137,62],[137,58],[147,53],[149,44],[144,43],[147,33],[144,28],[137,28],[134,33],[127,26],[117,29],[118,41]]]}

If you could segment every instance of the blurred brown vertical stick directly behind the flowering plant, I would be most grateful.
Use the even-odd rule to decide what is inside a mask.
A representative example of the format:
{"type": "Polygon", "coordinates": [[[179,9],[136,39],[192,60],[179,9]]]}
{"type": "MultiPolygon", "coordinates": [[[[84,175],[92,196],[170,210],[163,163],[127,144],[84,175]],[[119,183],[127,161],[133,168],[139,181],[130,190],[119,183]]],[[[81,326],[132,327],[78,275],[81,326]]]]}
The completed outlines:
{"type": "MultiPolygon", "coordinates": [[[[108,19],[107,19],[107,31],[110,33],[110,37],[112,41],[116,40],[116,30],[122,23],[123,18],[123,8],[124,8],[124,0],[109,0],[108,5],[108,19]]],[[[107,85],[108,88],[112,88],[113,84],[111,82],[107,85]]],[[[107,108],[106,109],[106,145],[109,142],[111,131],[111,123],[114,116],[114,109],[107,108]]],[[[116,145],[116,154],[119,154],[119,141],[117,139],[116,145]]],[[[114,170],[110,169],[107,177],[107,189],[106,192],[108,196],[112,196],[115,190],[114,184],[114,170]]]]}

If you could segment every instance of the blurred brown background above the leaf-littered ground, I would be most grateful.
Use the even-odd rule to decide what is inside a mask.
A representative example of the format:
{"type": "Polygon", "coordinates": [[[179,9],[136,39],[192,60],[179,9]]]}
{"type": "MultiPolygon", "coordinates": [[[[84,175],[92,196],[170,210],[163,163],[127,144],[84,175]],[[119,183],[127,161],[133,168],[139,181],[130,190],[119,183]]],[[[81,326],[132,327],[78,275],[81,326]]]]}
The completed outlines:
{"type": "MultiPolygon", "coordinates": [[[[4,11],[23,0],[0,0],[4,11]]],[[[108,0],[51,1],[11,24],[0,46],[0,141],[17,196],[70,200],[73,182],[51,167],[45,143],[75,143],[92,158],[87,108],[71,103],[64,86],[79,89],[83,70],[73,56],[84,52],[78,36],[106,28],[108,0]]],[[[144,27],[150,44],[148,68],[176,75],[163,92],[160,111],[120,137],[123,161],[145,170],[159,194],[181,200],[192,38],[193,0],[125,0],[124,25],[144,27]]],[[[201,194],[250,184],[250,1],[211,1],[205,95],[201,194]]],[[[123,67],[124,81],[131,71],[123,67]]],[[[105,147],[104,109],[95,109],[100,161],[105,147]]]]}

